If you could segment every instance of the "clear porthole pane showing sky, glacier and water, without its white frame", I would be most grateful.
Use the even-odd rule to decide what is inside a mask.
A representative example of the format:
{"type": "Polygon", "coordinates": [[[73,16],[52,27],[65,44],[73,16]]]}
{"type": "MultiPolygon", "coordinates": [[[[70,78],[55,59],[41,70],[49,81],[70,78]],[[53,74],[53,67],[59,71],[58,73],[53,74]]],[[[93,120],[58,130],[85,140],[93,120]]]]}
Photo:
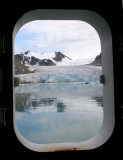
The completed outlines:
{"type": "Polygon", "coordinates": [[[85,141],[99,132],[101,56],[96,30],[83,21],[32,21],[18,31],[15,120],[23,137],[50,144],[85,141]]]}

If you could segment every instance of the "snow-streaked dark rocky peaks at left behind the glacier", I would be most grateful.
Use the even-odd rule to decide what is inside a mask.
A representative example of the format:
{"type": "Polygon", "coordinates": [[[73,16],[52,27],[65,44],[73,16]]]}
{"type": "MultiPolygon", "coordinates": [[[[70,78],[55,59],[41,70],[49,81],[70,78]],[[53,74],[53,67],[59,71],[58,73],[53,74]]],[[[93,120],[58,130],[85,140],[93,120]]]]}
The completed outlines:
{"type": "Polygon", "coordinates": [[[70,63],[71,58],[61,52],[37,53],[32,51],[16,54],[15,58],[25,66],[54,66],[70,63]]]}

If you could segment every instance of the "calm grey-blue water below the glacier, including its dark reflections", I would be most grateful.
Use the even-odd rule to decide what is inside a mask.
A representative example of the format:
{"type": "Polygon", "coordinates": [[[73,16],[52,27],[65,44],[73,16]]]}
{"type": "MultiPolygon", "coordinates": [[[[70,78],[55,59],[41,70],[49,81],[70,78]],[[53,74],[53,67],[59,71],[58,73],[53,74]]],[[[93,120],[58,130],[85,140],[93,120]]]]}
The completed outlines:
{"type": "Polygon", "coordinates": [[[37,144],[88,140],[102,126],[102,89],[100,83],[21,84],[15,88],[17,128],[37,144]]]}

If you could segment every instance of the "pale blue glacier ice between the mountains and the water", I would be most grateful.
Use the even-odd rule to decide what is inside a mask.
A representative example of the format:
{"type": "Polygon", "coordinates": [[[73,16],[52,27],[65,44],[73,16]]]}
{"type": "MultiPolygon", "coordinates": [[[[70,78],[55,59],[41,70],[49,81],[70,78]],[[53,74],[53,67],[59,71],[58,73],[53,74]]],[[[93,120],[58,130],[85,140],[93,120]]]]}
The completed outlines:
{"type": "Polygon", "coordinates": [[[63,83],[81,82],[100,84],[101,66],[34,66],[35,72],[15,75],[20,83],[63,83]]]}

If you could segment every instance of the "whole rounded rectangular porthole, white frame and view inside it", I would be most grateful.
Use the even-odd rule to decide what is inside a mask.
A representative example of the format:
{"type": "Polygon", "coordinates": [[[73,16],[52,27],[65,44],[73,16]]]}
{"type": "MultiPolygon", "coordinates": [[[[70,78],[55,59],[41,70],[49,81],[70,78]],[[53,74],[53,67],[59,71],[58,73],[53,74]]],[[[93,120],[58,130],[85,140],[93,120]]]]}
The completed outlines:
{"type": "Polygon", "coordinates": [[[14,129],[38,152],[87,150],[114,128],[112,37],[88,10],[33,10],[13,31],[14,129]]]}

